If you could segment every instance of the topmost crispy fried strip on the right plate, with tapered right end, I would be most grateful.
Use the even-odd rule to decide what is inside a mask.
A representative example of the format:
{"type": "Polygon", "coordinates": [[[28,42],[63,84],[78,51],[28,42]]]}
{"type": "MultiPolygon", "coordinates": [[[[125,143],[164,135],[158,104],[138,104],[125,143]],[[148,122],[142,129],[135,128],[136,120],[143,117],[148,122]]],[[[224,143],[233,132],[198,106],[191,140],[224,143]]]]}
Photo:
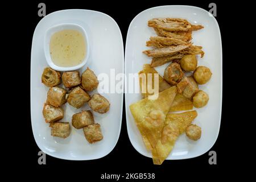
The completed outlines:
{"type": "Polygon", "coordinates": [[[204,28],[201,25],[193,25],[189,23],[187,20],[180,18],[154,18],[148,20],[148,26],[175,32],[194,31],[204,28]]]}

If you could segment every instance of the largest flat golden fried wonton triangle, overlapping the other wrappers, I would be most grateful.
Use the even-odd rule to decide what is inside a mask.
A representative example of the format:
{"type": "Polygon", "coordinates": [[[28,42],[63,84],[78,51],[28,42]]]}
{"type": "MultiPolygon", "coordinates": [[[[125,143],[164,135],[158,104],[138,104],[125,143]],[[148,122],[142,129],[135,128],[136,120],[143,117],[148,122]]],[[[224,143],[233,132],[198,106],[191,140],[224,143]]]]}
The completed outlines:
{"type": "Polygon", "coordinates": [[[177,93],[176,86],[159,93],[155,100],[144,98],[130,105],[131,114],[141,131],[154,148],[161,137],[166,115],[177,93]]]}

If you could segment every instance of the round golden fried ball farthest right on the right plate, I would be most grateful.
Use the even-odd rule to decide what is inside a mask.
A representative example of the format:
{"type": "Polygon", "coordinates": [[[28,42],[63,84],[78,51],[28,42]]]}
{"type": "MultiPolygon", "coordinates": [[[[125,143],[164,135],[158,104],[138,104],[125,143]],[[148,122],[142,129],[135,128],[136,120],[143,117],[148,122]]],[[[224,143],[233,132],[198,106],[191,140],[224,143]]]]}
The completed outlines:
{"type": "Polygon", "coordinates": [[[210,72],[209,68],[200,66],[196,68],[193,76],[198,84],[203,85],[210,80],[210,77],[212,77],[212,72],[210,72]]]}

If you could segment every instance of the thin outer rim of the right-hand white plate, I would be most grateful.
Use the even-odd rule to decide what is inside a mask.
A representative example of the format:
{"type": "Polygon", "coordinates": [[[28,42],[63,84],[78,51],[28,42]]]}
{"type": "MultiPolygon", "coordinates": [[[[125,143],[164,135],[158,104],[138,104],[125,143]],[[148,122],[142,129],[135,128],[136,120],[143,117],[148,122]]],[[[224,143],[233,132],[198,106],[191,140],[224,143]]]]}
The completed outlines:
{"type": "MultiPolygon", "coordinates": [[[[196,6],[187,6],[187,5],[166,5],[166,6],[156,6],[156,7],[151,7],[150,9],[146,9],[144,11],[142,11],[141,13],[139,13],[138,15],[136,15],[134,17],[134,19],[131,21],[130,25],[129,25],[129,28],[128,28],[128,31],[127,31],[127,36],[126,36],[126,46],[125,46],[125,54],[126,54],[126,48],[127,48],[127,37],[129,35],[129,32],[130,32],[130,28],[131,28],[131,24],[133,24],[134,20],[141,14],[145,13],[146,11],[150,11],[150,10],[153,10],[153,9],[159,9],[159,8],[164,8],[164,7],[190,7],[190,8],[193,8],[193,9],[199,9],[201,11],[205,11],[207,13],[209,13],[208,11],[204,10],[204,9],[201,9],[200,7],[196,7],[196,6]]],[[[212,16],[212,15],[210,15],[212,16]]],[[[212,143],[212,146],[208,148],[208,150],[205,150],[204,152],[201,152],[200,154],[197,154],[197,155],[192,155],[192,156],[189,156],[189,157],[181,157],[181,158],[173,158],[173,159],[166,159],[166,160],[180,160],[180,159],[190,159],[190,158],[196,158],[197,156],[200,156],[200,155],[203,155],[205,154],[207,151],[210,150],[210,148],[213,147],[213,145],[216,143],[216,140],[218,138],[218,134],[220,132],[220,124],[221,124],[221,110],[222,110],[222,43],[221,43],[221,34],[220,34],[220,27],[218,26],[218,22],[217,20],[214,18],[214,16],[212,16],[213,19],[214,19],[214,23],[216,24],[216,27],[218,28],[218,35],[220,37],[220,44],[221,44],[221,49],[220,49],[220,55],[221,55],[221,63],[220,63],[220,66],[221,66],[221,83],[220,83],[220,87],[221,87],[221,92],[220,92],[220,117],[218,118],[219,119],[219,125],[218,125],[218,131],[217,131],[217,135],[216,135],[216,138],[214,138],[214,142],[212,143]]],[[[126,60],[126,55],[125,55],[125,74],[127,74],[127,70],[126,70],[126,64],[127,64],[127,60],[126,60]]],[[[126,84],[125,84],[126,86],[126,84]]],[[[125,100],[127,100],[127,94],[125,94],[125,100]]],[[[130,127],[128,126],[128,122],[129,121],[129,118],[128,118],[128,114],[130,112],[130,109],[129,109],[129,106],[125,103],[125,113],[126,113],[126,127],[127,127],[127,133],[128,133],[128,136],[129,136],[129,140],[131,142],[131,131],[130,131],[130,127]]],[[[131,144],[133,145],[133,147],[135,148],[135,150],[137,150],[139,152],[139,154],[143,155],[143,156],[146,156],[148,158],[152,158],[152,156],[147,156],[147,155],[144,155],[140,150],[138,150],[137,146],[134,145],[133,142],[131,142],[131,144]]]]}

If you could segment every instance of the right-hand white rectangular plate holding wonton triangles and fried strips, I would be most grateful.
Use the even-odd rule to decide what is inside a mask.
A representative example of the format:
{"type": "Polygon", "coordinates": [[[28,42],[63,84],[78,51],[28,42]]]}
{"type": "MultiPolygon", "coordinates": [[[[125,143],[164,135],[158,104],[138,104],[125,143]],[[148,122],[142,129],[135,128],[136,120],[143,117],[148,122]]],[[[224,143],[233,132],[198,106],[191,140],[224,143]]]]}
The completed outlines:
{"type": "MultiPolygon", "coordinates": [[[[177,140],[174,150],[167,159],[195,158],[207,152],[218,137],[221,122],[222,104],[222,47],[220,29],[216,19],[207,11],[193,6],[159,6],[147,9],[139,13],[131,22],[126,39],[125,48],[125,73],[138,73],[143,64],[150,64],[151,58],[142,53],[146,49],[146,41],[150,36],[156,36],[154,30],[147,26],[147,21],[152,18],[184,18],[193,24],[202,24],[204,28],[193,32],[192,42],[197,46],[203,46],[205,56],[198,58],[199,65],[210,68],[213,75],[211,80],[200,85],[199,88],[209,94],[208,105],[202,109],[196,109],[198,116],[193,121],[202,129],[200,140],[193,142],[181,135],[177,140]]],[[[167,63],[156,67],[156,71],[163,76],[167,63]]],[[[139,85],[135,85],[138,86],[139,85]]],[[[128,89],[126,89],[128,90],[128,89]]],[[[141,94],[125,94],[126,121],[129,138],[133,147],[142,155],[151,158],[151,152],[144,147],[141,134],[135,125],[129,106],[141,100],[141,94]]]]}

